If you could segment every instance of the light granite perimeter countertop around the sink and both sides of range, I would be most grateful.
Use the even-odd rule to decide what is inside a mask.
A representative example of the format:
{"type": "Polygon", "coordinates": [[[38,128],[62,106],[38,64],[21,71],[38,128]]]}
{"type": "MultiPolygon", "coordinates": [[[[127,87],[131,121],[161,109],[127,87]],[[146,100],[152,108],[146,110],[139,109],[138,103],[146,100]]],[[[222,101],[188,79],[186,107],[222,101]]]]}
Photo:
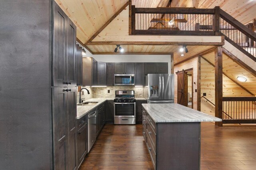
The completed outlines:
{"type": "MultiPolygon", "coordinates": [[[[147,100],[145,98],[135,98],[136,100],[147,100]]],[[[108,100],[114,100],[114,98],[91,98],[88,100],[85,100],[84,102],[98,102],[95,105],[88,105],[88,106],[76,106],[76,119],[80,119],[96,107],[98,107],[100,104],[104,103],[108,100]]]]}

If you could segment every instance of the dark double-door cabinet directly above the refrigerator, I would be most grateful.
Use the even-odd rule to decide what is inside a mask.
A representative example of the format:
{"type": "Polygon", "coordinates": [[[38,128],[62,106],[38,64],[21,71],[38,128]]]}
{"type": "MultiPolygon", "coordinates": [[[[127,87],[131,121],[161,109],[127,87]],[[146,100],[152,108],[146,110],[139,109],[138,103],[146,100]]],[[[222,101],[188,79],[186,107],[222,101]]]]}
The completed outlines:
{"type": "Polygon", "coordinates": [[[145,74],[168,74],[168,63],[145,63],[145,74]]]}

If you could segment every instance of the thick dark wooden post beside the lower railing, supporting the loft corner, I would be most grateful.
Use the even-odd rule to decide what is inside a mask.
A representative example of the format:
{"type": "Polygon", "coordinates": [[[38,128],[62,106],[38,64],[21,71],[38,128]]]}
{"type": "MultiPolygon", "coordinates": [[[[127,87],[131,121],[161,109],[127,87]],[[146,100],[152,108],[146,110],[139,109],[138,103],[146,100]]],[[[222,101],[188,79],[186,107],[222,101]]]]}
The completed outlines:
{"type": "MultiPolygon", "coordinates": [[[[222,119],[222,47],[215,49],[215,117],[222,119]]],[[[222,126],[222,122],[215,122],[222,126]]]]}

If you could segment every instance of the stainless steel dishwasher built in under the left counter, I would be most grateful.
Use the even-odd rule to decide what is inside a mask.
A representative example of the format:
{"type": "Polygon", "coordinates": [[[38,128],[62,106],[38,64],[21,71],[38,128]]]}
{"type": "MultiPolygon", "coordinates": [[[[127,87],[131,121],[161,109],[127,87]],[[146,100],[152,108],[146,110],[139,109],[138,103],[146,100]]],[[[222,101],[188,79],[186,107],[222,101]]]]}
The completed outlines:
{"type": "Polygon", "coordinates": [[[88,113],[88,152],[91,150],[97,133],[97,118],[98,111],[92,111],[88,113]]]}

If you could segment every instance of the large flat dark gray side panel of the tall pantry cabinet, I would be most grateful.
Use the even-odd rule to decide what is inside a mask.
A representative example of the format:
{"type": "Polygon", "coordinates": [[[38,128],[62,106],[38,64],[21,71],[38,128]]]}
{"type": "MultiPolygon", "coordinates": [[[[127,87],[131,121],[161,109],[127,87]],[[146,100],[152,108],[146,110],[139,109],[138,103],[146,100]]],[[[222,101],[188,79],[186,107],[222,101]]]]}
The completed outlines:
{"type": "Polygon", "coordinates": [[[52,168],[52,0],[0,0],[0,169],[52,168]]]}

